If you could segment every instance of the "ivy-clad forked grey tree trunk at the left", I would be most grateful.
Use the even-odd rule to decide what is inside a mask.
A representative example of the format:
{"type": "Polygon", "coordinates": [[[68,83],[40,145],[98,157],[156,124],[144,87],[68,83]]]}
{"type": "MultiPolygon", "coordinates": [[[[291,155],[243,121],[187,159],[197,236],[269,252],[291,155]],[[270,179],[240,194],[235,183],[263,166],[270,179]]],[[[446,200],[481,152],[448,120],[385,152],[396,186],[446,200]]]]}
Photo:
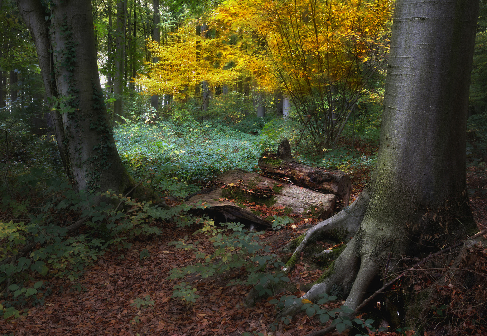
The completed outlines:
{"type": "MultiPolygon", "coordinates": [[[[46,8],[40,0],[19,0],[17,5],[36,45],[57,146],[75,190],[125,195],[135,183],[109,124],[90,1],[52,1],[46,8]]],[[[131,196],[149,199],[154,193],[138,186],[131,196]]]]}

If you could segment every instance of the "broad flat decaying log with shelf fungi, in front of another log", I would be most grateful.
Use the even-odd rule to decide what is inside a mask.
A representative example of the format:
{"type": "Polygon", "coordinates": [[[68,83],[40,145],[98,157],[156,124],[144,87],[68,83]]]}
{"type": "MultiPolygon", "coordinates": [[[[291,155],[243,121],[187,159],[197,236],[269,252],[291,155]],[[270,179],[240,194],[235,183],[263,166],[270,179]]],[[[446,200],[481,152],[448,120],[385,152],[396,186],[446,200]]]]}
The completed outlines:
{"type": "Polygon", "coordinates": [[[203,200],[211,206],[195,210],[197,214],[207,213],[213,217],[220,214],[223,217],[221,222],[231,220],[261,227],[270,227],[270,222],[264,220],[259,212],[245,206],[245,201],[267,207],[283,206],[286,213],[325,219],[333,214],[337,199],[336,195],[321,194],[240,169],[227,171],[210,184],[213,185],[186,199],[187,204],[203,200]]]}

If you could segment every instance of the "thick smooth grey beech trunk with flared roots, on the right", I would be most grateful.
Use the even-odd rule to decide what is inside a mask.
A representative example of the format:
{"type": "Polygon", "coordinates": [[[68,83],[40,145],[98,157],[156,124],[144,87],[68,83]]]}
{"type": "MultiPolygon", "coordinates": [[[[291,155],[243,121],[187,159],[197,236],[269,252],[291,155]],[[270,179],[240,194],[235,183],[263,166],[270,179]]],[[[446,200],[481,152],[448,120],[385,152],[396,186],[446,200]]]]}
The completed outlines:
{"type": "MultiPolygon", "coordinates": [[[[330,231],[353,236],[302,299],[316,302],[331,293],[356,310],[409,267],[408,258],[426,257],[477,231],[465,167],[477,13],[477,0],[396,1],[376,168],[350,207],[295,242],[285,272],[330,231]]],[[[430,297],[411,293],[403,300],[414,327],[430,297]]]]}

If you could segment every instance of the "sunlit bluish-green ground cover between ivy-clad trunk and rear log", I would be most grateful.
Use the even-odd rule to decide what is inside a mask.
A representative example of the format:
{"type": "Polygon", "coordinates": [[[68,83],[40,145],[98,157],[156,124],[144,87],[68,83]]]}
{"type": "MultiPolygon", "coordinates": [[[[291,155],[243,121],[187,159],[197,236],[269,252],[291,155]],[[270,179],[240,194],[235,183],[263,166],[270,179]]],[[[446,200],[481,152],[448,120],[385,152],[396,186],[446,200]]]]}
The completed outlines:
{"type": "Polygon", "coordinates": [[[144,123],[120,126],[114,133],[121,158],[134,174],[140,169],[158,170],[160,165],[171,165],[175,167],[173,177],[208,181],[229,169],[259,171],[257,161],[262,151],[275,150],[287,135],[283,121],[269,123],[273,126],[264,129],[261,126],[258,132],[248,125],[245,132],[238,124],[230,127],[223,122],[161,121],[155,126],[144,123]]]}

